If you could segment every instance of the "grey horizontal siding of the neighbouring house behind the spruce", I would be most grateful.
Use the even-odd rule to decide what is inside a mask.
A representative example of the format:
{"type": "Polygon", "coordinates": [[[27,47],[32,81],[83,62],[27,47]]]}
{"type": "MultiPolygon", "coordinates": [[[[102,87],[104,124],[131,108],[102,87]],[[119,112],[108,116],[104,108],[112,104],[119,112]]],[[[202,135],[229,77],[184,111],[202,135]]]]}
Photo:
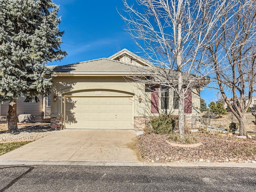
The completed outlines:
{"type": "MultiPolygon", "coordinates": [[[[42,121],[43,117],[43,96],[38,96],[39,102],[24,102],[25,98],[18,98],[17,100],[17,116],[20,114],[31,114],[35,116],[32,120],[42,121]]],[[[8,116],[8,103],[1,104],[1,116],[8,116]]]]}

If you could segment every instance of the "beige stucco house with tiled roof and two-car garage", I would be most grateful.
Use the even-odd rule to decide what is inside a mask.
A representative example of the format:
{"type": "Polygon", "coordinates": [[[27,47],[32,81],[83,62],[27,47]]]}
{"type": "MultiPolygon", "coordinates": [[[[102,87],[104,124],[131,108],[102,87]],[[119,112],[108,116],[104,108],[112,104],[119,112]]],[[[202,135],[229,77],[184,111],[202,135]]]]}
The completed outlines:
{"type": "MultiPolygon", "coordinates": [[[[109,58],[55,67],[51,126],[142,129],[151,116],[162,113],[177,116],[178,98],[174,90],[133,78],[140,77],[141,71],[144,76],[150,76],[157,70],[126,49],[109,58]]],[[[186,122],[199,126],[199,112],[198,88],[185,100],[186,122]]]]}

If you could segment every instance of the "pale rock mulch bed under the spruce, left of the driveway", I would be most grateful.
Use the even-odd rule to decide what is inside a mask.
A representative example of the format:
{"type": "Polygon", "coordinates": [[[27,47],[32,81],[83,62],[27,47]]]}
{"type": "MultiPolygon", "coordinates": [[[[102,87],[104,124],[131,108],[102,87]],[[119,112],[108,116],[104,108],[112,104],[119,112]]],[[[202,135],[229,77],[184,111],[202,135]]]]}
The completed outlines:
{"type": "MultiPolygon", "coordinates": [[[[19,132],[0,132],[0,143],[34,141],[50,135],[56,130],[50,128],[50,123],[18,123],[19,132]]],[[[0,130],[8,130],[7,124],[0,124],[0,130]]]]}

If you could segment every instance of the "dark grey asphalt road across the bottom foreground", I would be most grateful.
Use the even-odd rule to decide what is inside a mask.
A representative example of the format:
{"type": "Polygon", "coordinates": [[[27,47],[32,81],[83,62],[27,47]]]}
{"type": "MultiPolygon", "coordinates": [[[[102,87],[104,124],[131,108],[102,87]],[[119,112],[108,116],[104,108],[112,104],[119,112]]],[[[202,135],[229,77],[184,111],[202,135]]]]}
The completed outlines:
{"type": "Polygon", "coordinates": [[[254,168],[0,166],[0,192],[256,191],[254,168]]]}

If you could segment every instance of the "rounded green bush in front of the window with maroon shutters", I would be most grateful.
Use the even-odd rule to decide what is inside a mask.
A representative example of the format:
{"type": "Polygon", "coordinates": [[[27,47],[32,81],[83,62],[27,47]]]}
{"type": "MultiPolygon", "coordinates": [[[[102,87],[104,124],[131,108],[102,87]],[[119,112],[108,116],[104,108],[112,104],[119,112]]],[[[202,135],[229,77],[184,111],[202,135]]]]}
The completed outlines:
{"type": "Polygon", "coordinates": [[[175,120],[168,115],[160,115],[159,117],[152,117],[150,125],[156,134],[170,134],[174,130],[175,120]]]}

